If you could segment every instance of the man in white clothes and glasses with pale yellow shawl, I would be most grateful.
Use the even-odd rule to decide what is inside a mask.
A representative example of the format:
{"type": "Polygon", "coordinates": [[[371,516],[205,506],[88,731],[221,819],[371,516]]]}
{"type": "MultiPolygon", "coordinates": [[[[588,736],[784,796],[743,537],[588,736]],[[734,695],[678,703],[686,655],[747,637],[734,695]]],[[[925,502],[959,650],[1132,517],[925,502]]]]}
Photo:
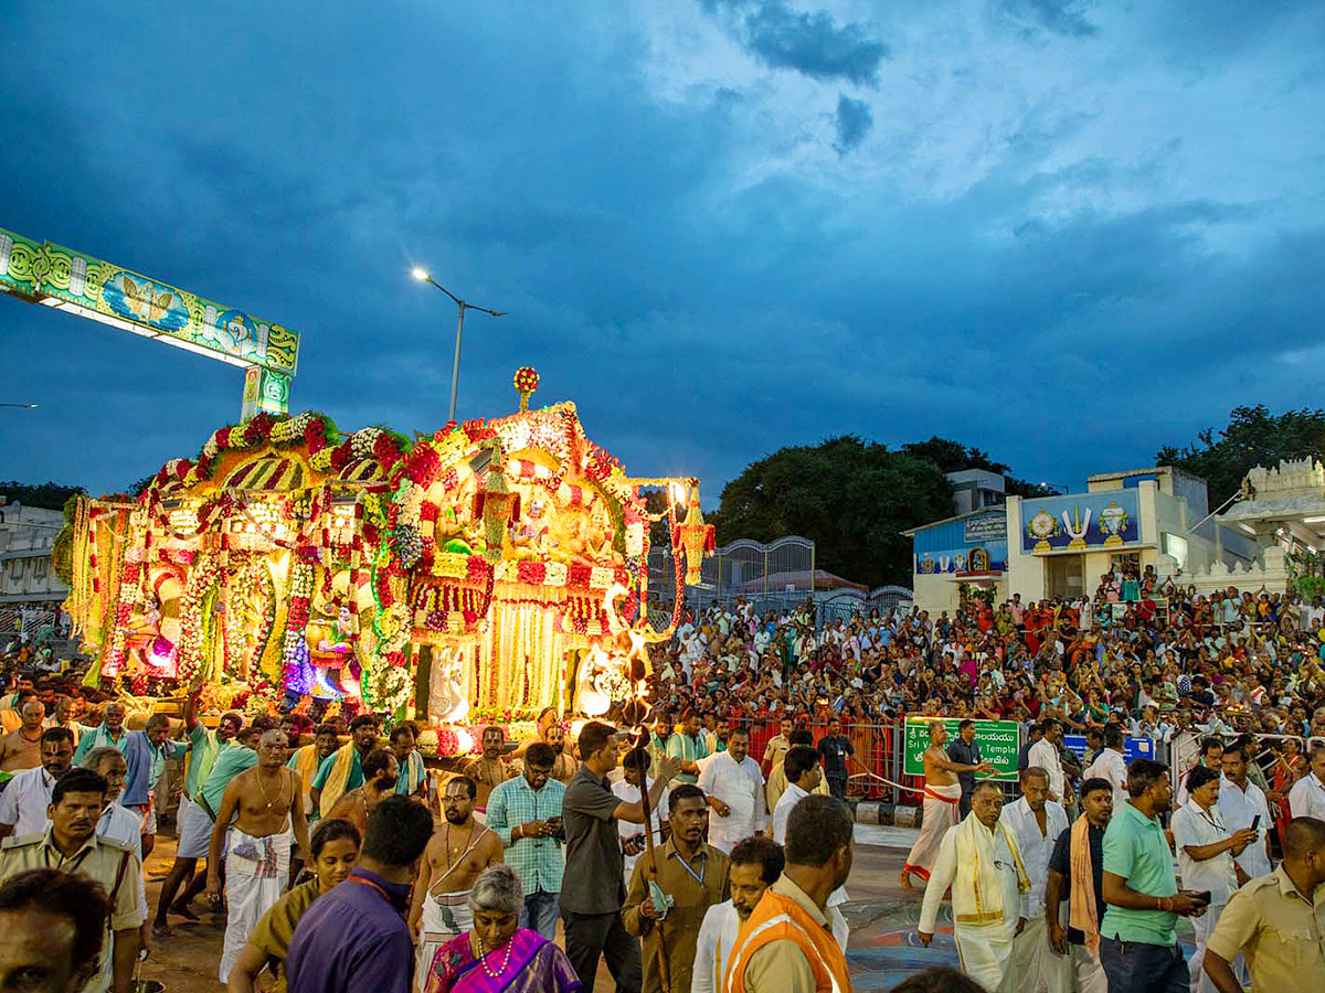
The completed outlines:
{"type": "Polygon", "coordinates": [[[951,886],[962,970],[990,993],[1007,993],[1019,980],[1010,968],[1012,943],[1026,927],[1031,888],[1016,841],[999,822],[1002,812],[1002,788],[990,780],[977,782],[971,813],[943,835],[920,911],[920,940],[928,948],[951,886]]]}

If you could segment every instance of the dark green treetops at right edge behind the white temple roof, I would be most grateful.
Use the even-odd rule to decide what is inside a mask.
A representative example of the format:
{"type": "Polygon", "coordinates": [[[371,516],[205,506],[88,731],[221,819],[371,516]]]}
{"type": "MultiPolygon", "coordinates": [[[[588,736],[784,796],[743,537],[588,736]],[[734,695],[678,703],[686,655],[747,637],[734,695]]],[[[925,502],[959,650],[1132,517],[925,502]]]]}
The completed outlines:
{"type": "Polygon", "coordinates": [[[1285,410],[1272,414],[1264,404],[1235,406],[1228,426],[1207,428],[1183,449],[1166,445],[1155,465],[1199,475],[1210,489],[1211,508],[1238,493],[1243,477],[1256,466],[1273,469],[1280,459],[1321,458],[1325,453],[1325,410],[1285,410]]]}

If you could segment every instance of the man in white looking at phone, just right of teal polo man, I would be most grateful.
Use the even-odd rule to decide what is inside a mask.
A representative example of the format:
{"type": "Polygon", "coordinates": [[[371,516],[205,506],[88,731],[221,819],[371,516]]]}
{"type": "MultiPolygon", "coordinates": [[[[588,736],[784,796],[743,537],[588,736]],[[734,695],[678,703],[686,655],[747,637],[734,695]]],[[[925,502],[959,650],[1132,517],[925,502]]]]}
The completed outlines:
{"type": "Polygon", "coordinates": [[[1257,835],[1251,828],[1234,831],[1224,826],[1219,814],[1220,789],[1218,772],[1204,765],[1194,767],[1187,773],[1187,802],[1173,816],[1173,843],[1178,849],[1182,887],[1210,892],[1210,910],[1191,920],[1196,951],[1187,960],[1187,973],[1194,993],[1216,993],[1214,981],[1202,969],[1206,940],[1219,923],[1228,898],[1248,879],[1234,859],[1257,835]]]}

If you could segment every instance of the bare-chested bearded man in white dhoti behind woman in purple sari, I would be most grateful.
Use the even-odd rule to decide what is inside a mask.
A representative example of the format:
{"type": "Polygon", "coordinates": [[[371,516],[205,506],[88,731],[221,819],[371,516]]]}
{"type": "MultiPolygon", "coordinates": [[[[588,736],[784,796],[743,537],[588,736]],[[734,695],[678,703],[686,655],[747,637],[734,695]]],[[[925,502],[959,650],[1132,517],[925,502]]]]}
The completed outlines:
{"type": "Polygon", "coordinates": [[[419,974],[447,941],[473,927],[469,891],[488,866],[502,861],[501,838],[474,818],[478,789],[468,776],[450,780],[441,794],[447,822],[433,831],[419,866],[409,929],[419,932],[419,974]]]}

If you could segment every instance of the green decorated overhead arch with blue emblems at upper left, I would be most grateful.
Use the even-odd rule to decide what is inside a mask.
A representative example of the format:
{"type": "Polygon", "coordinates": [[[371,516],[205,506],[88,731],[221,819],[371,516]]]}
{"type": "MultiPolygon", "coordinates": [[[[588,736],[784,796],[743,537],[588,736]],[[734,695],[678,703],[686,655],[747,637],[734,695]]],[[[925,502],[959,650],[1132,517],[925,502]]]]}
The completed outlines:
{"type": "Polygon", "coordinates": [[[0,228],[0,293],[261,369],[257,408],[284,412],[298,365],[299,332],[50,241],[0,228]]]}

